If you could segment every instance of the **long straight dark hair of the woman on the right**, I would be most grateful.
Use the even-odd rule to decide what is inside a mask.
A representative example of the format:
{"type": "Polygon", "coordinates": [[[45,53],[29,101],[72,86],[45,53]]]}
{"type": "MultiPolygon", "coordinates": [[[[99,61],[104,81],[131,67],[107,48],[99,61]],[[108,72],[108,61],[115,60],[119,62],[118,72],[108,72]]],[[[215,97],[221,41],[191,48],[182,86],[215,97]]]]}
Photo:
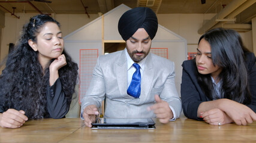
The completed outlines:
{"type": "MultiPolygon", "coordinates": [[[[202,35],[199,42],[201,39],[210,43],[213,65],[222,67],[219,74],[222,80],[221,97],[249,104],[251,94],[245,63],[245,52],[249,51],[243,46],[239,33],[231,29],[212,29],[202,35]]],[[[198,82],[204,94],[213,100],[214,89],[210,74],[198,73],[198,82]]]]}

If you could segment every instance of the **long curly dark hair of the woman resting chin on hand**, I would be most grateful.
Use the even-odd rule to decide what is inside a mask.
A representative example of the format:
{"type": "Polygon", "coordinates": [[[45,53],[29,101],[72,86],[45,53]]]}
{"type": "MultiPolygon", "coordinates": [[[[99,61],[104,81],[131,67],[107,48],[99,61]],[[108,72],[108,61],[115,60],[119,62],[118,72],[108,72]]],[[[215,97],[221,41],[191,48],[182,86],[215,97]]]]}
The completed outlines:
{"type": "MultiPolygon", "coordinates": [[[[23,26],[19,42],[8,54],[5,69],[0,76],[0,105],[6,111],[8,108],[24,110],[30,119],[49,117],[47,111],[46,88],[49,86],[49,66],[42,69],[38,61],[38,51],[35,52],[28,41],[37,42],[37,35],[46,23],[58,21],[46,14],[32,17],[23,26]]],[[[77,64],[71,60],[65,50],[67,65],[59,69],[59,79],[62,89],[70,105],[77,80],[77,64]]]]}

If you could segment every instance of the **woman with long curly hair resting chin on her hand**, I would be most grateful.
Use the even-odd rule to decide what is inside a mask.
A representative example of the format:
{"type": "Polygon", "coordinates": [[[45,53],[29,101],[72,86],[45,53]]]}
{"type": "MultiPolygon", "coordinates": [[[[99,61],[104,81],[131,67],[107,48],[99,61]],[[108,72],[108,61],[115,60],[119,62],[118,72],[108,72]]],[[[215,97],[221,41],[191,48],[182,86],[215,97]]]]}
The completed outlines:
{"type": "Polygon", "coordinates": [[[28,119],[65,117],[77,80],[77,64],[64,50],[60,24],[46,14],[23,26],[0,76],[0,126],[28,119]]]}

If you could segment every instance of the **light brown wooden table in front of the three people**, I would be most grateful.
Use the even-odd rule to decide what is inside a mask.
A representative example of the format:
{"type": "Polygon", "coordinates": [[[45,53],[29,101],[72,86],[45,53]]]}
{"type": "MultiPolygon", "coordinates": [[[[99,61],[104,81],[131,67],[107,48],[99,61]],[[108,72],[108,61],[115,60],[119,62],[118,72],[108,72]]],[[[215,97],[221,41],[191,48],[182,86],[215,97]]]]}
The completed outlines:
{"type": "Polygon", "coordinates": [[[19,129],[0,127],[0,142],[256,142],[256,122],[212,126],[191,119],[177,119],[155,130],[96,130],[81,119],[29,120],[19,129]]]}

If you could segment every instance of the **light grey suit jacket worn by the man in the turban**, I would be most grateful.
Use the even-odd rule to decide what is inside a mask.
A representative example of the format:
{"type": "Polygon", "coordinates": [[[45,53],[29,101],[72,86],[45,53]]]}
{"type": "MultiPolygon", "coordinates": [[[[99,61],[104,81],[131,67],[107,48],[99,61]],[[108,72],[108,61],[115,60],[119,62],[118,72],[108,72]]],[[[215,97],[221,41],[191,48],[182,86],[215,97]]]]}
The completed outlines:
{"type": "MultiPolygon", "coordinates": [[[[88,105],[101,107],[106,98],[104,117],[156,117],[147,107],[155,102],[154,95],[167,101],[179,117],[181,100],[174,83],[174,63],[155,54],[148,54],[141,80],[139,98],[127,94],[127,57],[125,50],[98,58],[92,81],[82,99],[82,112],[88,105]]],[[[82,115],[82,113],[81,113],[82,115]]]]}

